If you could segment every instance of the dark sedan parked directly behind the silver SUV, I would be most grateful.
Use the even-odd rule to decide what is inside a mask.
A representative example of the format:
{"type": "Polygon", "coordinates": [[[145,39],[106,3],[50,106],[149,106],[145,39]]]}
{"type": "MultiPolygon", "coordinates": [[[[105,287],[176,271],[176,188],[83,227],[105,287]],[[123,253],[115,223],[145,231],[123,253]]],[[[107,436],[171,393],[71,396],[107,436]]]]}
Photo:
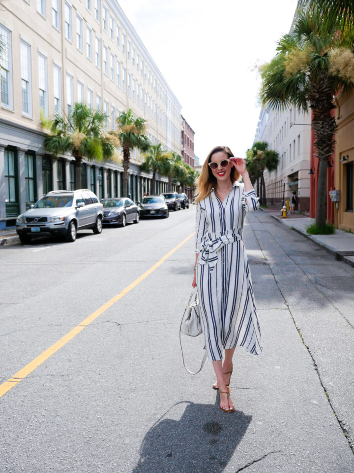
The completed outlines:
{"type": "Polygon", "coordinates": [[[125,227],[128,222],[139,223],[138,205],[127,197],[102,199],[103,223],[125,227]]]}

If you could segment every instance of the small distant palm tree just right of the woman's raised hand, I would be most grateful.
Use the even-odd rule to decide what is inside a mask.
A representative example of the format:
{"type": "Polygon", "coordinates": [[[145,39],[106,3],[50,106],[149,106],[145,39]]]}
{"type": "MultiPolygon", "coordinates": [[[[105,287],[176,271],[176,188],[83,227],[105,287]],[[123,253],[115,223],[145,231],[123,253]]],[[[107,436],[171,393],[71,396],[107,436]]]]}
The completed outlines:
{"type": "MultiPolygon", "coordinates": [[[[261,192],[258,194],[262,205],[266,205],[266,183],[264,179],[264,171],[269,172],[277,169],[279,163],[279,153],[272,149],[268,149],[266,141],[256,141],[251,149],[247,150],[248,165],[250,162],[254,165],[254,172],[261,181],[261,192]]],[[[259,192],[259,189],[257,189],[259,192]]]]}

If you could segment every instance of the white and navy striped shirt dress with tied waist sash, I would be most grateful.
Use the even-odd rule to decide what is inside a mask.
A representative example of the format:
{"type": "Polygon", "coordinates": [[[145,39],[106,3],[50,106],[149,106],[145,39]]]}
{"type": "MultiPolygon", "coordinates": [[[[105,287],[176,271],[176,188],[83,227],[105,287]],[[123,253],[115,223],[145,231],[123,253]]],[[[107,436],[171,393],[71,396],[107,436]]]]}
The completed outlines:
{"type": "Polygon", "coordinates": [[[222,349],[246,347],[262,353],[261,331],[242,230],[247,211],[259,208],[255,191],[245,193],[235,182],[224,201],[214,189],[198,202],[196,281],[205,347],[209,360],[222,359],[222,349]],[[247,202],[245,202],[247,199],[247,202]]]}

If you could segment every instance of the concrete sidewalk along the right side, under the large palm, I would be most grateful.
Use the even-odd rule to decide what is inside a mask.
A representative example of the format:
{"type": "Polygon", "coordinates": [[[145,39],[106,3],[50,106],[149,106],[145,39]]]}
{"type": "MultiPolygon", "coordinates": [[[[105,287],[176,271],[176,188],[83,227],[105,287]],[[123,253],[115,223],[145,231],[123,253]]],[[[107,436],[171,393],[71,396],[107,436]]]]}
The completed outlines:
{"type": "Polygon", "coordinates": [[[280,208],[275,207],[262,208],[261,210],[287,227],[292,228],[295,232],[314,241],[328,253],[334,255],[337,260],[354,266],[354,234],[336,229],[333,235],[309,235],[306,233],[306,228],[315,219],[300,213],[288,213],[288,216],[283,218],[280,216],[280,208]]]}

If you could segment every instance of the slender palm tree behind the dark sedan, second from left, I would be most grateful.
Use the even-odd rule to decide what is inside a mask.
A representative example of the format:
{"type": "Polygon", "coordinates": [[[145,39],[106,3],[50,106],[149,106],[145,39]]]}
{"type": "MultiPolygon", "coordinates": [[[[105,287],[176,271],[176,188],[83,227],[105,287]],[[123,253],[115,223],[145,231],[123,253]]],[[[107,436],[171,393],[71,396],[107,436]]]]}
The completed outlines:
{"type": "Polygon", "coordinates": [[[146,152],[150,147],[148,136],[145,135],[146,120],[141,117],[135,117],[131,108],[127,112],[122,112],[117,118],[118,130],[113,132],[118,136],[120,145],[123,149],[123,194],[128,194],[128,178],[130,151],[138,148],[146,152]]]}

